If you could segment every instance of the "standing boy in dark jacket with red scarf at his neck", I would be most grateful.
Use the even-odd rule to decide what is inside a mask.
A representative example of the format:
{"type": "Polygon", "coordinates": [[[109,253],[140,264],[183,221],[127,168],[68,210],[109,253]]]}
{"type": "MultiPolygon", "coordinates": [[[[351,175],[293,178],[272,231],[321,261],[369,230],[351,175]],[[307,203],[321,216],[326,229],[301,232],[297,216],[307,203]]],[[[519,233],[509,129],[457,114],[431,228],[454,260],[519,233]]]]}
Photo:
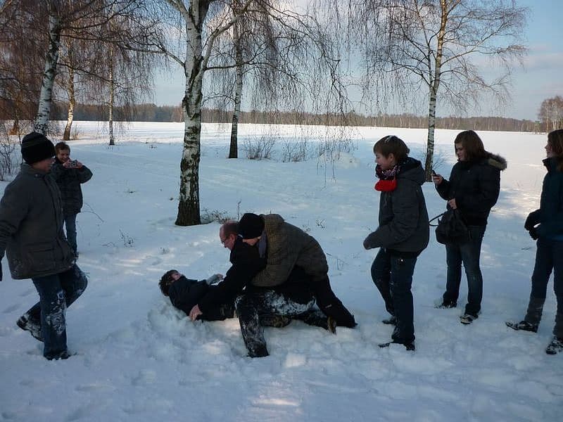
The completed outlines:
{"type": "MultiPolygon", "coordinates": [[[[412,274],[417,257],[429,241],[428,212],[422,193],[424,170],[408,156],[409,148],[397,136],[385,136],[374,145],[375,190],[379,199],[379,227],[364,241],[364,248],[380,248],[372,264],[372,279],[395,324],[391,343],[415,350],[412,274]]],[[[383,343],[386,347],[390,343],[383,343]]]]}

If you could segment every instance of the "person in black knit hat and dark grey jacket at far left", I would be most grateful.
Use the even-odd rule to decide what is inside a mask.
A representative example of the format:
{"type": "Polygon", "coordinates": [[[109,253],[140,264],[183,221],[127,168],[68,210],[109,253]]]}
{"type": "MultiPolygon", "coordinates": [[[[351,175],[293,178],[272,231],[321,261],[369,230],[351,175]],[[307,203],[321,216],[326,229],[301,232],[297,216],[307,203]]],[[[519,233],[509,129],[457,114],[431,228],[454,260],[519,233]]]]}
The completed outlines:
{"type": "Polygon", "coordinates": [[[0,200],[0,259],[6,252],[12,278],[32,279],[39,293],[18,326],[43,341],[44,357],[67,359],[65,311],[88,281],[63,234],[61,193],[46,177],[53,143],[32,132],[21,151],[25,163],[0,200]]]}

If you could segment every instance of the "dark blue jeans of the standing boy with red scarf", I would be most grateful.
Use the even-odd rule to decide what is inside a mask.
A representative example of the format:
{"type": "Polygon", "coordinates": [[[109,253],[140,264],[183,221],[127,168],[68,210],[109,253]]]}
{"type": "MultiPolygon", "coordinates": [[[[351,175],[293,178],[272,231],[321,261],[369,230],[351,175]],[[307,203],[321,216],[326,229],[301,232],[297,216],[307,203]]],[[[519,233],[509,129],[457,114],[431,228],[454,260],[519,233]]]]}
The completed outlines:
{"type": "Polygon", "coordinates": [[[415,341],[412,304],[412,274],[416,257],[400,257],[380,248],[372,264],[372,280],[381,293],[385,309],[397,319],[393,341],[408,344],[415,341]]]}

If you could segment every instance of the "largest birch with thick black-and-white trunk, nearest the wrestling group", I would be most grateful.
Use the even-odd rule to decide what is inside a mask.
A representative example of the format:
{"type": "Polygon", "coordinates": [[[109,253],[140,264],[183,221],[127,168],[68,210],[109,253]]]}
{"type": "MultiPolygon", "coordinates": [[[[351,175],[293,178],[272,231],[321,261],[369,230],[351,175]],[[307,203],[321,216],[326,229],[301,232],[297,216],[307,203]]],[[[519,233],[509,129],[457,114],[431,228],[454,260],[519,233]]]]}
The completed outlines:
{"type": "MultiPolygon", "coordinates": [[[[176,19],[176,23],[178,23],[177,32],[172,36],[172,39],[184,39],[185,45],[182,45],[182,49],[174,49],[174,46],[170,43],[167,45],[155,44],[152,48],[146,46],[145,51],[164,53],[172,62],[182,66],[186,78],[184,97],[182,98],[184,146],[180,161],[179,205],[176,224],[187,226],[201,223],[199,162],[201,158],[201,108],[205,99],[203,77],[208,70],[234,69],[237,66],[236,57],[230,63],[221,62],[217,58],[217,55],[220,56],[220,51],[224,51],[220,45],[220,40],[232,37],[235,25],[237,26],[234,33],[239,34],[241,28],[239,23],[248,16],[255,17],[268,14],[272,17],[272,20],[277,20],[280,25],[286,27],[302,23],[308,19],[308,16],[289,11],[278,5],[274,0],[238,0],[236,4],[233,4],[231,0],[162,1],[163,4],[168,6],[166,9],[168,14],[166,12],[160,13],[163,21],[167,17],[172,21],[176,19]],[[226,34],[229,34],[229,37],[226,34]]],[[[254,21],[253,17],[248,18],[248,20],[254,21]]],[[[167,22],[170,22],[170,20],[167,22]]],[[[305,39],[306,30],[304,31],[301,32],[301,38],[293,37],[289,42],[298,44],[300,39],[305,39]]],[[[170,38],[170,27],[166,27],[163,32],[167,32],[170,38]]],[[[254,35],[260,38],[259,33],[254,35]]],[[[265,50],[265,46],[262,46],[261,49],[265,50]]],[[[260,51],[260,49],[256,51],[260,51]]],[[[252,60],[260,63],[260,59],[263,59],[264,56],[256,53],[256,51],[243,58],[242,64],[245,65],[252,60]]],[[[335,63],[338,63],[338,60],[331,62],[333,66],[331,68],[332,75],[336,74],[334,72],[334,67],[337,67],[335,63]]],[[[242,66],[239,66],[239,70],[241,69],[242,66]]],[[[313,71],[311,70],[311,72],[313,71]]],[[[324,77],[324,75],[316,76],[315,82],[317,83],[324,77]]],[[[238,98],[240,98],[240,91],[239,85],[238,98]]],[[[240,100],[235,99],[235,101],[239,103],[240,100]]]]}

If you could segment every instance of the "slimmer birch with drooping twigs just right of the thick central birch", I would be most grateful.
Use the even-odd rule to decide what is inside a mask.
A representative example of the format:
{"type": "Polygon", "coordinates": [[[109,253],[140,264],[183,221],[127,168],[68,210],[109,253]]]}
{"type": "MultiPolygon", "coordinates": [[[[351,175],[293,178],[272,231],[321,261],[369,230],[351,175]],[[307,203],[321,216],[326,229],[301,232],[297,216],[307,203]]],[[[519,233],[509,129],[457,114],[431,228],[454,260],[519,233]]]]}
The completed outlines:
{"type": "MultiPolygon", "coordinates": [[[[234,15],[238,8],[240,0],[234,0],[234,15]]],[[[232,103],[229,158],[238,157],[243,86],[247,104],[253,110],[274,112],[281,108],[298,112],[305,103],[310,112],[334,112],[338,108],[332,103],[327,108],[314,109],[314,98],[323,98],[330,91],[317,85],[316,79],[331,75],[328,86],[337,87],[342,76],[333,68],[339,61],[331,49],[334,40],[327,37],[325,27],[316,18],[307,11],[279,13],[273,4],[253,4],[236,20],[232,31],[224,34],[222,38],[227,39],[220,40],[221,48],[208,69],[217,70],[212,89],[222,85],[221,98],[232,103]]]]}

